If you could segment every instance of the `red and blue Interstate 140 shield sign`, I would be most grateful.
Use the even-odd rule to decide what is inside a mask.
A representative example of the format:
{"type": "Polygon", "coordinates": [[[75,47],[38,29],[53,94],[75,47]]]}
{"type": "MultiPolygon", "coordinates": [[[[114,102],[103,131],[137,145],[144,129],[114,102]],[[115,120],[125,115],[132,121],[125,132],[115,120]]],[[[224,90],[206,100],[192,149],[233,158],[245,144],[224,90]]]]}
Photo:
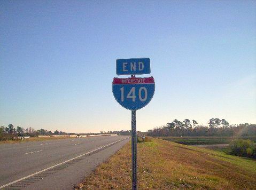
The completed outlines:
{"type": "Polygon", "coordinates": [[[147,104],[154,95],[154,78],[114,78],[112,91],[115,100],[130,110],[141,109],[147,104]]]}

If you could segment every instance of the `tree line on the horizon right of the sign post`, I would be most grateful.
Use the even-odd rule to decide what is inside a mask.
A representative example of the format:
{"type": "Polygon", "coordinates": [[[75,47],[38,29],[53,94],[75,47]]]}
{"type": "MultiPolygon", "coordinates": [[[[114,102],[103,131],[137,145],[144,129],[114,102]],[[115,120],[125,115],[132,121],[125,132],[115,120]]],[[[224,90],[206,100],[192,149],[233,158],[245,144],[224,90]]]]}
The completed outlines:
{"type": "Polygon", "coordinates": [[[232,136],[256,136],[256,125],[241,123],[230,125],[225,119],[211,118],[208,126],[198,125],[196,120],[174,120],[166,125],[147,131],[152,137],[232,137],[232,136]]]}

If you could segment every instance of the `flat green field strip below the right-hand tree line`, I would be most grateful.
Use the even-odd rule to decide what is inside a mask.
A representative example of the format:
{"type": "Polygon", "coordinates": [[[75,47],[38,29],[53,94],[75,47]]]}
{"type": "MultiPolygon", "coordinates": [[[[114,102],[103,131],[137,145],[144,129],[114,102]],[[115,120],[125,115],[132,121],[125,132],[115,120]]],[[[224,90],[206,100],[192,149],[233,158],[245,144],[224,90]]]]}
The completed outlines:
{"type": "Polygon", "coordinates": [[[229,144],[235,139],[250,139],[256,143],[256,137],[157,137],[183,145],[215,145],[229,144]]]}

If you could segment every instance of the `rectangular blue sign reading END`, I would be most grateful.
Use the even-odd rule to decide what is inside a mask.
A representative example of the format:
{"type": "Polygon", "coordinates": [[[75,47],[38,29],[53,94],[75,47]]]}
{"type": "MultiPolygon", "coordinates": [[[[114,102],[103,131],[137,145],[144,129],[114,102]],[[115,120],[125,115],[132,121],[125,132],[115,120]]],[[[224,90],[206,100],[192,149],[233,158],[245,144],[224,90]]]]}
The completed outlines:
{"type": "Polygon", "coordinates": [[[150,74],[150,59],[117,59],[117,75],[150,74]]]}

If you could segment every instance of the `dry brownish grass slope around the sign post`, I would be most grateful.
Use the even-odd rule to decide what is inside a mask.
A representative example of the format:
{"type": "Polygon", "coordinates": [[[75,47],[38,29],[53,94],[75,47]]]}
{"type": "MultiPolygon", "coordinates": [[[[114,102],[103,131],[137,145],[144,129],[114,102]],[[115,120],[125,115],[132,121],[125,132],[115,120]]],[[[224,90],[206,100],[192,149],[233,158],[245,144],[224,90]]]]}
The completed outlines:
{"type": "MultiPolygon", "coordinates": [[[[256,189],[256,161],[166,140],[138,143],[139,189],[256,189]]],[[[130,143],[89,175],[84,189],[130,189],[130,143]]]]}

